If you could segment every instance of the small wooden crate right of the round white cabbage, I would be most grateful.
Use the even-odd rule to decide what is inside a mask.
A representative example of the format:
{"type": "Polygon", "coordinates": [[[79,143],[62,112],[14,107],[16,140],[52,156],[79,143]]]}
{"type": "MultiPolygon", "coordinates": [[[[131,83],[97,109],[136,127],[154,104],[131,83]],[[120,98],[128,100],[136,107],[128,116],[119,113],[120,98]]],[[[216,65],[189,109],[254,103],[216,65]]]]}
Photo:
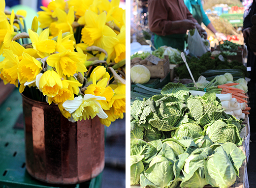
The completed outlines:
{"type": "Polygon", "coordinates": [[[165,61],[161,60],[158,62],[158,65],[144,65],[150,71],[150,78],[165,78],[170,72],[169,68],[169,58],[168,55],[164,56],[165,61]]]}

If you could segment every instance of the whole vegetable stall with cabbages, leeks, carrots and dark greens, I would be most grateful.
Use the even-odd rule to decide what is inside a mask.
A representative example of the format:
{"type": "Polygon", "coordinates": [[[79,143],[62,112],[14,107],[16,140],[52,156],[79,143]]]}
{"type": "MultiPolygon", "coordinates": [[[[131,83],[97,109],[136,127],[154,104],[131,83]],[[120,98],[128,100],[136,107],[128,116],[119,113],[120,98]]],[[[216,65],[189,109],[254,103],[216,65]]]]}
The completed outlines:
{"type": "Polygon", "coordinates": [[[180,52],[166,49],[131,56],[131,67],[153,66],[159,79],[161,62],[168,60],[170,70],[164,86],[135,83],[140,75],[131,75],[131,188],[248,188],[251,108],[243,46],[224,41],[202,56],[186,55],[196,83],[180,52]]]}

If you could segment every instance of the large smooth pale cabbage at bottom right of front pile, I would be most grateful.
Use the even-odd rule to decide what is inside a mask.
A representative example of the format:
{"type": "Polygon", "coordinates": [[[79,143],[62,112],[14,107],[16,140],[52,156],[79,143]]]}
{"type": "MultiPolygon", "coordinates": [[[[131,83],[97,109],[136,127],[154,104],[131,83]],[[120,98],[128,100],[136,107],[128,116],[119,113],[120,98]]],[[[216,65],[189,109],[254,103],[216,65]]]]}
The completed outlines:
{"type": "Polygon", "coordinates": [[[224,149],[219,148],[218,152],[205,162],[205,178],[213,187],[228,188],[236,181],[236,172],[224,149]]]}

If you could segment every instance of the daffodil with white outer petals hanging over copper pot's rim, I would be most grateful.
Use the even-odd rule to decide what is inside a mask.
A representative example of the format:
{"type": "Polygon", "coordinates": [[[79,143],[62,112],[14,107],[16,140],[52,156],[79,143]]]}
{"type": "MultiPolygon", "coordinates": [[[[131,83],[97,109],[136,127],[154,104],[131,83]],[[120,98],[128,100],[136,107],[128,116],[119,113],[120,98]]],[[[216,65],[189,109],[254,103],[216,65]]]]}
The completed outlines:
{"type": "Polygon", "coordinates": [[[85,94],[84,97],[78,96],[74,100],[67,100],[63,103],[63,107],[75,121],[82,119],[94,118],[96,115],[99,118],[107,118],[107,114],[103,111],[98,100],[105,100],[104,97],[99,97],[91,94],[85,94]]]}

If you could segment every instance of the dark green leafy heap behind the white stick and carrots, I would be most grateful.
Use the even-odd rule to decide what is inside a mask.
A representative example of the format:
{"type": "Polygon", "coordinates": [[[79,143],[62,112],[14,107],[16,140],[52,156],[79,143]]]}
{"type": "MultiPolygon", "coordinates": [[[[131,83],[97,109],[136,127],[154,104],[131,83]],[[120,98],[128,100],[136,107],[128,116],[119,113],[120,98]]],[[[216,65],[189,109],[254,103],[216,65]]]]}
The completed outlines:
{"type": "MultiPolygon", "coordinates": [[[[228,62],[226,55],[223,53],[216,55],[216,57],[213,59],[211,58],[211,53],[209,52],[203,54],[200,59],[197,57],[192,57],[187,62],[195,80],[201,76],[201,73],[210,69],[239,69],[244,73],[245,77],[249,77],[247,68],[243,65],[243,63],[237,60],[228,62]],[[224,61],[222,61],[223,59],[220,57],[220,55],[224,57],[224,61]]],[[[183,62],[179,63],[179,67],[175,68],[174,70],[175,73],[179,76],[179,79],[191,78],[185,63],[183,62]]]]}

